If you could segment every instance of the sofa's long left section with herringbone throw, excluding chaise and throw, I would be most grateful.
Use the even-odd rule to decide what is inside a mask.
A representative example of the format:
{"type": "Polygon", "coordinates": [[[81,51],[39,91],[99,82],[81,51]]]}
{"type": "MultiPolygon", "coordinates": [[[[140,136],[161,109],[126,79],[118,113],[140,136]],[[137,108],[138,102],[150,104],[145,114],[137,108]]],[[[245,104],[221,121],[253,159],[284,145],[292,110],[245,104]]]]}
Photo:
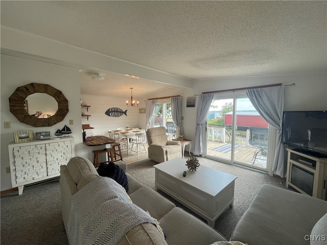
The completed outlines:
{"type": "MultiPolygon", "coordinates": [[[[127,165],[125,162],[117,161],[115,163],[118,164],[125,173],[127,172],[127,165]]],[[[71,213],[72,201],[74,199],[73,195],[82,191],[83,188],[88,188],[90,182],[98,181],[97,179],[99,178],[107,177],[100,177],[94,165],[88,159],[81,157],[72,158],[67,165],[61,166],[60,171],[59,183],[61,189],[62,218],[68,241],[69,244],[81,244],[80,240],[72,239],[72,235],[69,233],[71,215],[74,215],[74,213],[71,213]]],[[[216,241],[226,241],[225,237],[202,222],[202,220],[183,209],[176,207],[168,199],[162,197],[162,195],[150,187],[144,186],[128,173],[126,173],[126,176],[129,186],[129,190],[127,191],[128,197],[132,200],[133,204],[148,211],[151,217],[158,220],[159,227],[164,231],[166,239],[159,232],[159,229],[157,229],[156,226],[150,223],[143,223],[128,231],[120,239],[118,243],[119,245],[195,245],[212,244],[216,241]]],[[[99,188],[102,187],[99,186],[99,188]]],[[[84,202],[91,202],[91,200],[83,200],[83,203],[84,202]]],[[[108,235],[109,234],[110,232],[108,231],[108,235]]],[[[80,234],[80,237],[83,235],[84,234],[80,234]]]]}

